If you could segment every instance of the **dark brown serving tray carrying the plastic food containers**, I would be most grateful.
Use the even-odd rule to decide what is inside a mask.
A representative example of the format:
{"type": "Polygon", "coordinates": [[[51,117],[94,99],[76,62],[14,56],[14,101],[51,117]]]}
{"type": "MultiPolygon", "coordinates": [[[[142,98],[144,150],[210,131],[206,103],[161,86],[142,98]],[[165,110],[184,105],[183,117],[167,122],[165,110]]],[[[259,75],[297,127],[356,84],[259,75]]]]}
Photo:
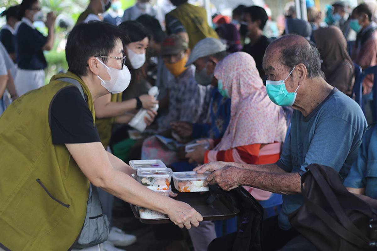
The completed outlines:
{"type": "MultiPolygon", "coordinates": [[[[239,213],[231,200],[224,195],[211,196],[210,192],[205,193],[178,193],[173,197],[178,201],[186,202],[195,208],[203,216],[203,221],[217,221],[233,218],[239,213]],[[209,198],[210,197],[210,198],[209,198]]],[[[173,223],[169,218],[141,219],[135,205],[131,205],[135,218],[144,224],[169,224],[173,223]]]]}

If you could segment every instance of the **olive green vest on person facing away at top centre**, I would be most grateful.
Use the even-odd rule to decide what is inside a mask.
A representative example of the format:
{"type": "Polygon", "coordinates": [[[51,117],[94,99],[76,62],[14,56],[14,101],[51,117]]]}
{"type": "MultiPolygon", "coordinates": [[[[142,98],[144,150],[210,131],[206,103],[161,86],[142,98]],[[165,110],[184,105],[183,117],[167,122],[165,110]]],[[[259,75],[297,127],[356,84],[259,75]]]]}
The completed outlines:
{"type": "Polygon", "coordinates": [[[207,22],[207,12],[204,8],[184,3],[170,11],[167,15],[171,15],[178,19],[185,27],[189,35],[189,48],[193,49],[203,38],[219,38],[215,30],[213,30],[207,22]]]}

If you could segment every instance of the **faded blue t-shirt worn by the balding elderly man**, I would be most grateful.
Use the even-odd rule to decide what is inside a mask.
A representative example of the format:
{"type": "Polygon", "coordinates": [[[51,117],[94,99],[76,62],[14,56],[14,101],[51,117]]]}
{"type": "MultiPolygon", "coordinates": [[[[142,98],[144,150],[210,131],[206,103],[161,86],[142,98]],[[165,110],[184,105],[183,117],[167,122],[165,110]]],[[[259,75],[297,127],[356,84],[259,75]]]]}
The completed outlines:
{"type": "MultiPolygon", "coordinates": [[[[295,110],[291,132],[277,165],[286,172],[305,171],[317,163],[334,168],[344,179],[357,157],[366,120],[360,106],[336,88],[308,116],[295,110]]],[[[280,228],[291,227],[288,214],[302,204],[301,195],[283,195],[280,228]]]]}

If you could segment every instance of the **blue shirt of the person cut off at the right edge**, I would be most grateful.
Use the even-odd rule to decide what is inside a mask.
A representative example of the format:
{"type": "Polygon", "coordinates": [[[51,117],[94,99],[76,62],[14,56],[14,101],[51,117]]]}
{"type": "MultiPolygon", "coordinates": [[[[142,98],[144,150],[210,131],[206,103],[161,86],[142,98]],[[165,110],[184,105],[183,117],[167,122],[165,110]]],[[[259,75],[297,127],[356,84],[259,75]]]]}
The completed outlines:
{"type": "Polygon", "coordinates": [[[365,188],[366,196],[377,199],[377,123],[366,129],[357,160],[352,164],[344,186],[365,188]]]}

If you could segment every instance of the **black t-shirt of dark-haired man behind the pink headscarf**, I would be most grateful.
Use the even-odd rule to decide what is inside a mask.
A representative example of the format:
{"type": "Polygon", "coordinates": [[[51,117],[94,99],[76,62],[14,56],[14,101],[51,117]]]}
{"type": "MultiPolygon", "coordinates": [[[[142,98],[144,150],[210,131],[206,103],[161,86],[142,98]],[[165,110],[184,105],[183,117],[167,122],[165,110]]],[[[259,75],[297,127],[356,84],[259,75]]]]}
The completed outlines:
{"type": "Polygon", "coordinates": [[[244,49],[242,49],[243,52],[249,53],[254,58],[259,76],[261,76],[262,79],[266,78],[263,70],[263,56],[270,43],[271,41],[266,36],[262,36],[254,44],[246,44],[244,49]]]}

